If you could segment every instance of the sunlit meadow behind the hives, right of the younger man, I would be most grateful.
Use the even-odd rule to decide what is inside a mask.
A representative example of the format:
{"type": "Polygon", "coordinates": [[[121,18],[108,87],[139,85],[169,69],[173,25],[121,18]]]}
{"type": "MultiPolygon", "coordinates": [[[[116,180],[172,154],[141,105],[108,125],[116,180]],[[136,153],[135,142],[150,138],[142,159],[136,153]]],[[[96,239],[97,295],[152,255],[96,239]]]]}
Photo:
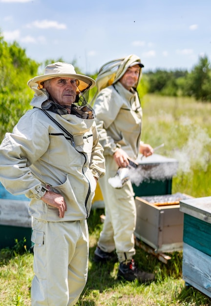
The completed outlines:
{"type": "Polygon", "coordinates": [[[148,95],[143,113],[142,139],[153,147],[164,143],[156,153],[179,162],[172,193],[211,195],[211,103],[148,95]]]}

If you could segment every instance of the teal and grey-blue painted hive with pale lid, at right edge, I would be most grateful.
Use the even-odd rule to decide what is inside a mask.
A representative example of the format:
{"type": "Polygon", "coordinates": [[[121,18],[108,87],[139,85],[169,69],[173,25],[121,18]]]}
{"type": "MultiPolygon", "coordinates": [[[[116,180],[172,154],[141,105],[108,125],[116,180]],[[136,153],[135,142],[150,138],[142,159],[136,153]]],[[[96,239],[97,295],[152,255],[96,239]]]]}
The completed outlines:
{"type": "Polygon", "coordinates": [[[184,213],[182,275],[211,297],[211,197],[180,201],[184,213]]]}

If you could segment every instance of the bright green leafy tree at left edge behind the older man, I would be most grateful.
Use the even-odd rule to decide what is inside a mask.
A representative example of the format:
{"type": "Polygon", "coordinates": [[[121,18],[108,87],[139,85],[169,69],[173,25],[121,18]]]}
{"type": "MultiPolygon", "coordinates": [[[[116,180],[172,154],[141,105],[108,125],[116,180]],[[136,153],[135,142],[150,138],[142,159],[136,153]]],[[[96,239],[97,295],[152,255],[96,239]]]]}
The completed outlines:
{"type": "Polygon", "coordinates": [[[37,75],[39,66],[18,43],[7,44],[0,36],[0,139],[30,108],[33,92],[27,81],[37,75]]]}

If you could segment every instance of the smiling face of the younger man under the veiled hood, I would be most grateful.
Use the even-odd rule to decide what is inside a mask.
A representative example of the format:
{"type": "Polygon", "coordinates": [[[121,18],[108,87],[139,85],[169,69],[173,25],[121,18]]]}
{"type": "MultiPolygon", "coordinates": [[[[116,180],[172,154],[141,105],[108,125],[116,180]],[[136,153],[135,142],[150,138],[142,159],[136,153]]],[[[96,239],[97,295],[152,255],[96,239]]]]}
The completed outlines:
{"type": "Polygon", "coordinates": [[[127,90],[130,90],[131,87],[136,87],[138,78],[140,74],[140,66],[135,65],[129,67],[119,82],[124,86],[127,90]]]}

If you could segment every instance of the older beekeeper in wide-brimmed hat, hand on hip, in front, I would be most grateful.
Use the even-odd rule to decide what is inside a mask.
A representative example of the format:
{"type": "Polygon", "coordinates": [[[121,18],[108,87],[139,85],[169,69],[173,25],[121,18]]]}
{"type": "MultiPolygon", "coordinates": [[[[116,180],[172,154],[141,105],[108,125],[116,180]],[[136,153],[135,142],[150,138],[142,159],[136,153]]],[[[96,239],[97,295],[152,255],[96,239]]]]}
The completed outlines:
{"type": "Polygon", "coordinates": [[[28,110],[0,145],[0,181],[31,198],[32,306],[74,305],[87,280],[89,216],[105,174],[94,111],[85,94],[95,81],[57,62],[28,81],[28,110]]]}

